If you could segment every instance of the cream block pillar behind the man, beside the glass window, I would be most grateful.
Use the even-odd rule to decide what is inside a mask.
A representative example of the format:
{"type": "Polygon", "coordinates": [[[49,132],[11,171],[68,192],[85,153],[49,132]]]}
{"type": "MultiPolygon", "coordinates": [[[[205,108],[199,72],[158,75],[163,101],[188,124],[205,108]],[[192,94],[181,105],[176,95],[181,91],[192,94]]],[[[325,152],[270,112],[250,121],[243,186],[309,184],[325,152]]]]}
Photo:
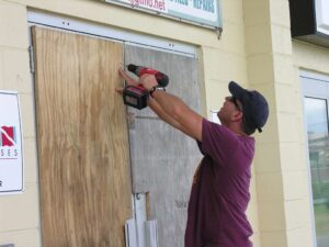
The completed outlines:
{"type": "Polygon", "coordinates": [[[245,2],[248,79],[270,101],[254,161],[262,247],[313,246],[300,83],[287,0],[245,2]]]}

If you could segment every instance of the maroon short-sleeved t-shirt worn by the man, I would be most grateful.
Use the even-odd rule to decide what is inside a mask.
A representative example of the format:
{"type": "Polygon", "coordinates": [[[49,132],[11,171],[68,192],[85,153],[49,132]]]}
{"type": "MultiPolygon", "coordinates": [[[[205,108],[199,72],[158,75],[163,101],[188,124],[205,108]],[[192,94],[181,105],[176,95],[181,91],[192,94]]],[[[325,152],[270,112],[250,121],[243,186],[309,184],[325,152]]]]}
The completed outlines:
{"type": "Polygon", "coordinates": [[[197,144],[204,158],[193,179],[185,247],[251,247],[246,210],[253,137],[204,119],[197,144]]]}

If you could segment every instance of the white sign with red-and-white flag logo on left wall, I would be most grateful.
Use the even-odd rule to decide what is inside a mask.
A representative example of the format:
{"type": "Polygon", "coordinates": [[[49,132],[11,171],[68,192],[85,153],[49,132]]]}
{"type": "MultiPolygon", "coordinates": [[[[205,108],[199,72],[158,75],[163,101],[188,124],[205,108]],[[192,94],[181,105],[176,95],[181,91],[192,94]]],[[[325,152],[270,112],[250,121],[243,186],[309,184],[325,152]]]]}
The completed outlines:
{"type": "Polygon", "coordinates": [[[16,92],[0,91],[0,194],[23,191],[20,102],[16,92]]]}

